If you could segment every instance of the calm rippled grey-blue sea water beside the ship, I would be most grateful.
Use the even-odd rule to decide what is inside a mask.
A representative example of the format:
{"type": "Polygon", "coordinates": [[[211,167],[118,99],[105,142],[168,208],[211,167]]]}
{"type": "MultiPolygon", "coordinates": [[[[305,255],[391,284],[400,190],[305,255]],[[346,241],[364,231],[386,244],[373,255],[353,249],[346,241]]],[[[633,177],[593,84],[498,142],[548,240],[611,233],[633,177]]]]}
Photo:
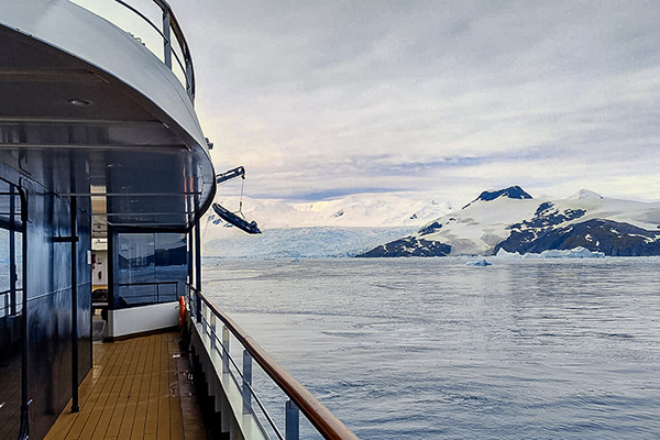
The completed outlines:
{"type": "Polygon", "coordinates": [[[659,258],[207,261],[361,439],[660,438],[659,258]]]}

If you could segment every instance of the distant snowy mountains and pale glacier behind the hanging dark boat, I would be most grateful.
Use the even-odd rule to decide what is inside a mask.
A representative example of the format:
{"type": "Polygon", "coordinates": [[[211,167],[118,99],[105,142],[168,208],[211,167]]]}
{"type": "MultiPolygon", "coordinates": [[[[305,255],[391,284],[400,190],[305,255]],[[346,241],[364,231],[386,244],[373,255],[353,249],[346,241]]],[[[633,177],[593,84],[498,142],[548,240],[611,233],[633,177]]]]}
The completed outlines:
{"type": "MultiPolygon", "coordinates": [[[[239,210],[238,198],[219,198],[239,210]]],[[[243,198],[242,213],[260,235],[248,235],[212,211],[202,222],[204,254],[222,257],[353,256],[414,232],[450,210],[448,204],[406,195],[360,194],[316,202],[243,198]]]]}

